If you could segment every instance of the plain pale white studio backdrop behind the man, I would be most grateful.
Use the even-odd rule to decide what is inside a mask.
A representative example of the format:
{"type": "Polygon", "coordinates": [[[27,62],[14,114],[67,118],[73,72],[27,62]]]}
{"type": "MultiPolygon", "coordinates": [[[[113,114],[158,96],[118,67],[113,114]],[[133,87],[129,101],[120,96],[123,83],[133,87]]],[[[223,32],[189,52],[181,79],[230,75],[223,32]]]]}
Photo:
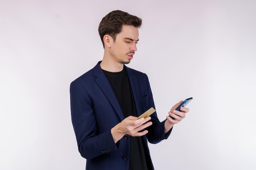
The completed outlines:
{"type": "MultiPolygon", "coordinates": [[[[256,169],[254,0],[0,0],[0,169],[84,170],[70,83],[102,60],[101,19],[142,18],[127,66],[148,75],[160,121],[189,97],[156,170],[256,169]]],[[[106,113],[107,114],[107,113],[106,113]]]]}

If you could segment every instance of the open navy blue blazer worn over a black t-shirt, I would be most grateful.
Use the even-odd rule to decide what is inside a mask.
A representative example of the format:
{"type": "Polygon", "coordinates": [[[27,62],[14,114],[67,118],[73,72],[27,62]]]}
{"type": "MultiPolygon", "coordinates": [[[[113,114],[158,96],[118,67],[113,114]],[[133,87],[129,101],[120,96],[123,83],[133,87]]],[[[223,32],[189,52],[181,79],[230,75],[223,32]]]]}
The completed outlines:
{"type": "MultiPolygon", "coordinates": [[[[125,135],[115,144],[110,132],[124,119],[124,115],[99,64],[70,85],[71,116],[78,149],[87,159],[86,170],[128,170],[129,136],[125,135]]],[[[147,75],[124,68],[130,80],[137,116],[151,107],[155,108],[147,75]]],[[[156,144],[171,133],[170,130],[164,134],[164,121],[158,120],[157,113],[153,113],[151,118],[153,124],[143,136],[148,154],[147,140],[156,144]]]]}

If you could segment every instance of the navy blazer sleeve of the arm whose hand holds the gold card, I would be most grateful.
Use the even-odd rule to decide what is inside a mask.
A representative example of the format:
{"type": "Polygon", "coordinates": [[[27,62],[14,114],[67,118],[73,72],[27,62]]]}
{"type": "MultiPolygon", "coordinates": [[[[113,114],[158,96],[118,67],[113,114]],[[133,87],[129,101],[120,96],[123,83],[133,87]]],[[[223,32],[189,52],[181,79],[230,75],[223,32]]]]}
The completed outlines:
{"type": "Polygon", "coordinates": [[[70,85],[70,105],[72,124],[82,157],[92,159],[118,150],[110,130],[98,134],[90,97],[83,85],[76,80],[70,85]]]}

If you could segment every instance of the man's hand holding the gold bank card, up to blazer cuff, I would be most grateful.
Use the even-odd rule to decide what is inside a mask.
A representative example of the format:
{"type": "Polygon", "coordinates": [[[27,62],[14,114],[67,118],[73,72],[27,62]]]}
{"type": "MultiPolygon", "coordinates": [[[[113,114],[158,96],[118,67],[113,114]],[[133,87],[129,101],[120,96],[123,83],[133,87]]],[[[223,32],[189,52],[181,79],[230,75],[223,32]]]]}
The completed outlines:
{"type": "Polygon", "coordinates": [[[150,119],[150,116],[145,118],[142,117],[140,119],[137,119],[137,117],[134,116],[126,117],[123,121],[111,129],[111,134],[115,143],[117,143],[117,141],[119,141],[126,134],[133,137],[146,135],[148,130],[144,130],[142,132],[139,131],[152,125],[152,122],[149,121],[150,119]]]}

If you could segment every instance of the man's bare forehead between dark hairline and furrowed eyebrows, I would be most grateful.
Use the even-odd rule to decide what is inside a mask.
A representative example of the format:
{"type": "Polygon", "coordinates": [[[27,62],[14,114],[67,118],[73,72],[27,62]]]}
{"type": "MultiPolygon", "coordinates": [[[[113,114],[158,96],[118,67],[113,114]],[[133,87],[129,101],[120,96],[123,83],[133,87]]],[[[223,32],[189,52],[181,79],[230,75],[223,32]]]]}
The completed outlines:
{"type": "Polygon", "coordinates": [[[117,34],[119,38],[131,38],[133,40],[139,39],[139,29],[132,25],[122,25],[121,32],[117,34]]]}

